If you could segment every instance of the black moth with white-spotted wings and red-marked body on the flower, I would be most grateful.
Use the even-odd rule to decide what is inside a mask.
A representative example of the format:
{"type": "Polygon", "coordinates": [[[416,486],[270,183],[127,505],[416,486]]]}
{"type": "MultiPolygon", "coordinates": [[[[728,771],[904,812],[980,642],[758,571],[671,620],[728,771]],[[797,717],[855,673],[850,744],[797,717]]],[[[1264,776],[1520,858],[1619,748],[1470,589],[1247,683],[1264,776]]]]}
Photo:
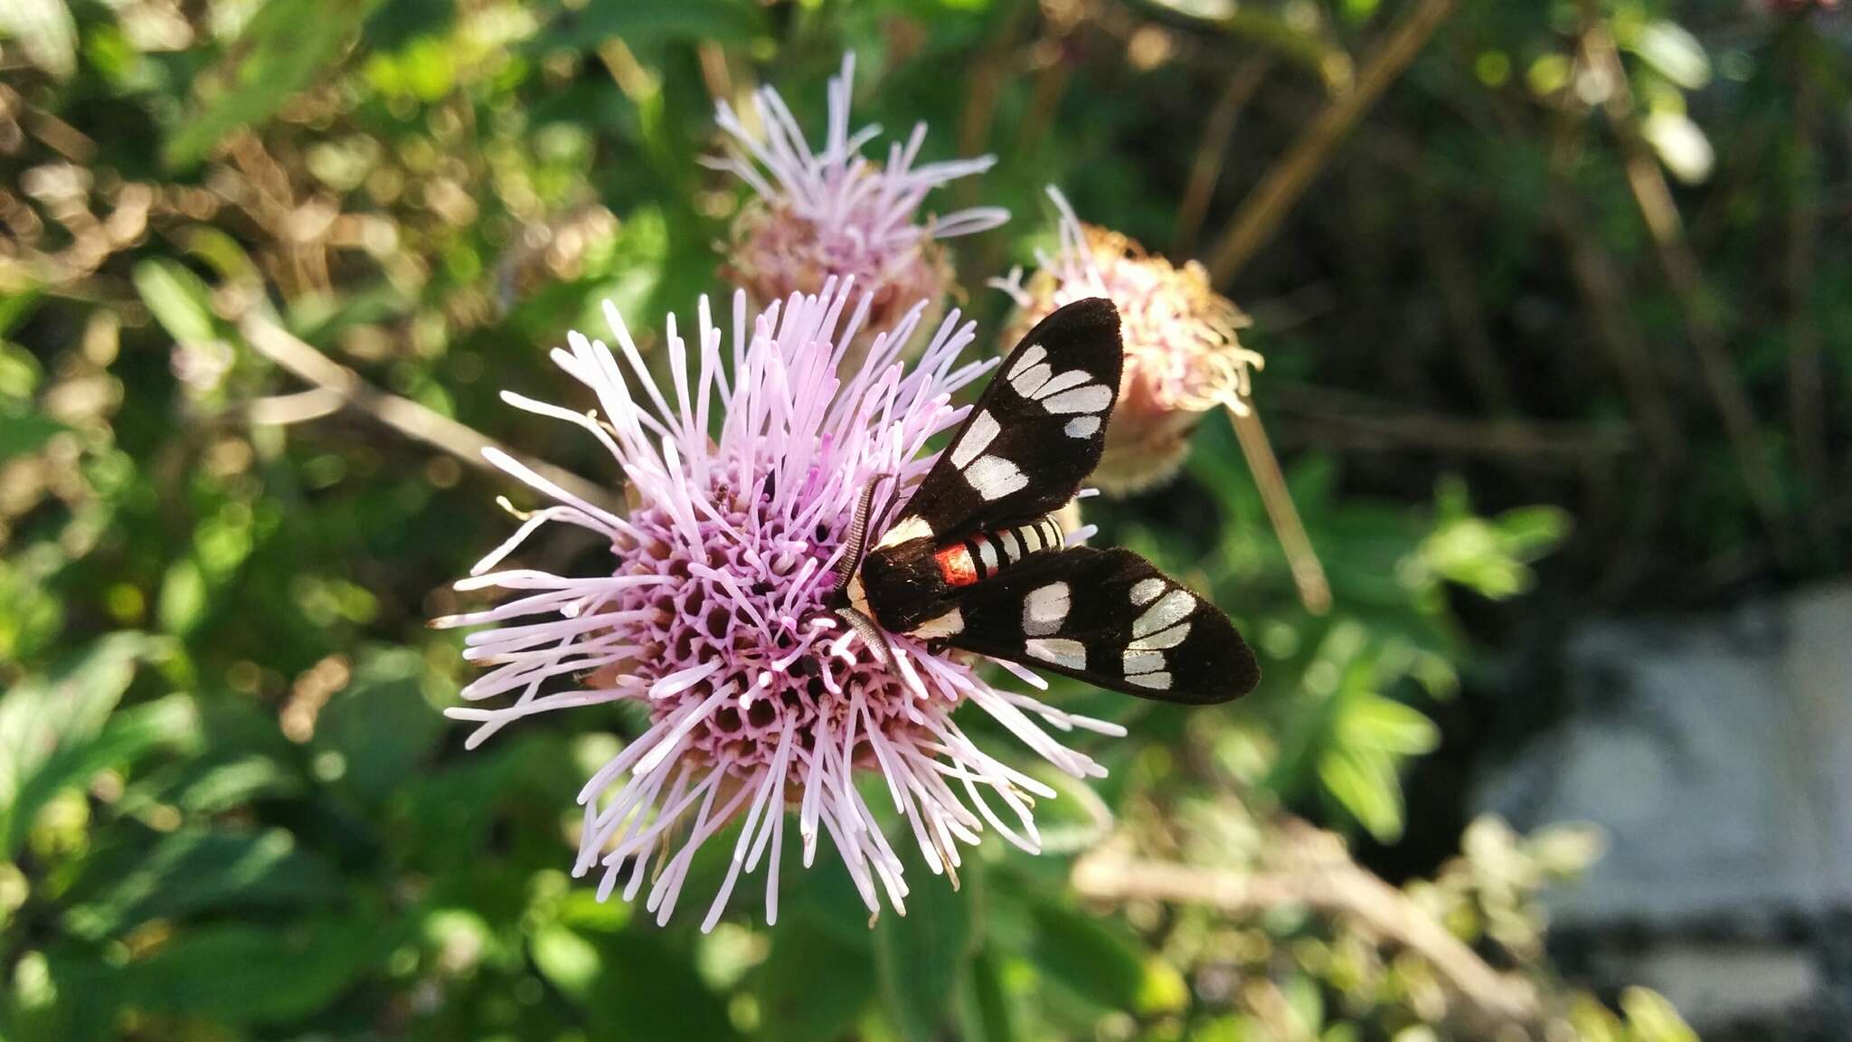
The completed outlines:
{"type": "Polygon", "coordinates": [[[1132,551],[1069,547],[1054,517],[1100,462],[1122,365],[1113,302],[1067,304],[1009,352],[872,547],[878,480],[863,489],[828,606],[876,658],[885,630],[1169,703],[1259,682],[1215,604],[1132,551]]]}

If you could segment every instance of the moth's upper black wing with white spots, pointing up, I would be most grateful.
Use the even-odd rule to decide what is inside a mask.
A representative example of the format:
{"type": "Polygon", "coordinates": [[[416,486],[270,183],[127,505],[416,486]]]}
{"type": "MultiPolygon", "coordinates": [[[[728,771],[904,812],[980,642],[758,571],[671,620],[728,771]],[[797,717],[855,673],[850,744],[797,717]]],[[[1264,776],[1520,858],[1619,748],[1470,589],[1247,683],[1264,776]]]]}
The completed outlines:
{"type": "Polygon", "coordinates": [[[891,530],[946,540],[1037,517],[1074,499],[1106,449],[1122,367],[1111,300],[1074,300],[1035,323],[891,530]]]}

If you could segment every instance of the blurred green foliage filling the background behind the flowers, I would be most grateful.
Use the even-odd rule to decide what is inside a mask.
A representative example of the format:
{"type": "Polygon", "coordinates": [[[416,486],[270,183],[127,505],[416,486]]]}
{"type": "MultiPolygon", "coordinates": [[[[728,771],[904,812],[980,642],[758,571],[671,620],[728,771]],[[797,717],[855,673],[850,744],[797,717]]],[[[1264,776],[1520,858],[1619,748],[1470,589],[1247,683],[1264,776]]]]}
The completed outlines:
{"type": "MultiPolygon", "coordinates": [[[[1232,436],[1206,423],[1174,489],[1091,519],[1213,590],[1259,649],[1263,688],[1185,714],[1057,686],[1061,705],[1132,729],[1087,747],[1111,779],[1096,792],[1050,779],[1063,792],[1039,808],[1050,855],[993,842],[957,892],[911,866],[913,914],[872,929],[828,858],[785,866],[776,927],[735,897],[706,936],[685,916],[633,923],[572,883],[574,794],[633,721],[567,714],[465,755],[439,716],[467,680],[459,645],[424,627],[506,534],[491,499],[532,502],[304,391],[241,326],[263,315],[393,395],[609,478],[593,451],[556,445],[494,395],[548,397],[546,347],[602,299],[643,330],[717,287],[713,245],[737,204],[698,163],[717,95],[770,82],[820,126],[820,83],[854,48],[863,119],[930,121],[933,158],[995,150],[998,169],[957,189],[1017,213],[959,245],[965,302],[995,328],[1004,300],[983,280],[1048,241],[1045,184],[1154,247],[1209,243],[1233,185],[1345,96],[1411,7],[0,7],[0,1036],[1485,1036],[1472,996],[1419,946],[1350,916],[1082,901],[1069,870],[1109,842],[1263,871],[1308,821],[1393,842],[1411,814],[1400,773],[1441,742],[1428,710],[1474,667],[1456,610],[1526,593],[1530,565],[1570,538],[1565,506],[1570,571],[1656,543],[1615,601],[1654,569],[1706,571],[1691,560],[1837,564],[1837,462],[1808,445],[1845,417],[1756,428],[1776,460],[1771,521],[1691,365],[1659,358],[1645,386],[1613,375],[1630,345],[1687,337],[1682,306],[1746,339],[1733,378],[1765,417],[1785,415],[1767,402],[1785,400],[1795,358],[1846,362],[1852,300],[1822,289],[1852,271],[1843,250],[1809,239],[1789,247],[1806,250],[1798,267],[1771,273],[1717,248],[1785,226],[1783,208],[1822,206],[1824,159],[1800,117],[1843,104],[1845,80],[1804,19],[1745,15],[1719,44],[1682,20],[1715,28],[1741,4],[1459,4],[1346,145],[1328,197],[1235,284],[1259,319],[1248,343],[1270,358],[1263,412],[1269,380],[1300,388],[1282,397],[1295,447],[1356,447],[1343,423],[1291,406],[1308,380],[1578,434],[1624,426],[1628,460],[1656,438],[1661,397],[1676,445],[1646,488],[1676,484],[1689,510],[1635,495],[1606,451],[1570,456],[1567,478],[1548,443],[1511,465],[1454,449],[1445,465],[1296,452],[1291,488],[1335,591],[1311,616],[1232,436]],[[1715,280],[1695,302],[1641,274],[1656,243],[1624,135],[1585,130],[1613,96],[1578,50],[1591,28],[1622,54],[1628,126],[1654,161],[1721,185],[1689,226],[1715,280]],[[1200,141],[1228,70],[1252,63],[1269,80],[1235,145],[1200,141]],[[1211,191],[1178,226],[1208,159],[1211,191]],[[1485,230],[1450,221],[1456,206],[1485,230]],[[1543,239],[1569,260],[1541,263],[1543,239]],[[1439,289],[1409,299],[1402,269],[1439,289]],[[1624,273],[1608,287],[1619,299],[1602,295],[1604,271],[1624,273]],[[1783,271],[1787,304],[1763,293],[1783,271]],[[1765,299],[1804,317],[1758,324],[1765,299]],[[1504,354],[1448,360],[1437,326],[1504,354]],[[1439,471],[1470,471],[1506,506],[1474,510],[1439,471]],[[1511,506],[1539,501],[1556,506],[1511,506]]],[[[583,547],[537,553],[594,567],[583,547]]],[[[730,845],[707,845],[694,892],[730,845]]],[[[1541,996],[1526,1031],[1691,1038],[1648,992],[1608,1009],[1548,970],[1535,897],[1595,857],[1589,836],[1480,821],[1461,851],[1404,899],[1541,996]]]]}

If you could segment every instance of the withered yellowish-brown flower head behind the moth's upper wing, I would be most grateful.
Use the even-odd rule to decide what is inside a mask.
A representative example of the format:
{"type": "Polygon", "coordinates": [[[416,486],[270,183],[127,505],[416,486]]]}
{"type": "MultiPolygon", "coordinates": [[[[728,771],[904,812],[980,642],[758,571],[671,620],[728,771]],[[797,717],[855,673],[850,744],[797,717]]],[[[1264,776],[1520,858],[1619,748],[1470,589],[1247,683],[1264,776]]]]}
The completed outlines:
{"type": "Polygon", "coordinates": [[[1059,189],[1048,197],[1061,213],[1056,256],[1037,254],[1039,271],[1028,282],[1020,271],[995,282],[1017,300],[1004,343],[1063,304],[1109,297],[1119,306],[1126,369],[1091,484],[1124,495],[1165,482],[1183,465],[1204,412],[1248,412],[1248,378],[1263,365],[1235,336],[1248,317],[1209,287],[1200,263],[1176,267],[1146,254],[1119,232],[1082,224],[1059,189]]]}

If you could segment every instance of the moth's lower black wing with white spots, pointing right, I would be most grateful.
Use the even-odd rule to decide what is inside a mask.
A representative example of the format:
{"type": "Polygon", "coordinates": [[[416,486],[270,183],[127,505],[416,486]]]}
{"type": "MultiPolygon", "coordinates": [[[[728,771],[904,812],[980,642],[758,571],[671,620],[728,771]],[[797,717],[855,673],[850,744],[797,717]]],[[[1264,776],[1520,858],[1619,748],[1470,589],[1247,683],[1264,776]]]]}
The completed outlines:
{"type": "Polygon", "coordinates": [[[1220,608],[1132,551],[1069,547],[959,591],[952,647],[1167,703],[1237,699],[1261,679],[1220,608]]]}

